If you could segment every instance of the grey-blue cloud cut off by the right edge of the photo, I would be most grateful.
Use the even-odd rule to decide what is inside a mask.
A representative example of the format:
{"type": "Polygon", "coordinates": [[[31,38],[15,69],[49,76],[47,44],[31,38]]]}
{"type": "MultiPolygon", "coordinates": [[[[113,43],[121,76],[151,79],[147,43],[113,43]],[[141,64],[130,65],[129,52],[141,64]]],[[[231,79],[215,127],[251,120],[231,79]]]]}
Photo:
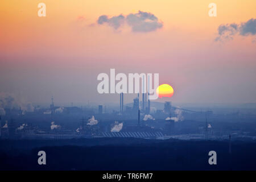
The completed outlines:
{"type": "Polygon", "coordinates": [[[221,24],[218,26],[218,36],[215,41],[233,40],[235,35],[254,36],[256,35],[256,19],[249,19],[240,24],[221,24]]]}

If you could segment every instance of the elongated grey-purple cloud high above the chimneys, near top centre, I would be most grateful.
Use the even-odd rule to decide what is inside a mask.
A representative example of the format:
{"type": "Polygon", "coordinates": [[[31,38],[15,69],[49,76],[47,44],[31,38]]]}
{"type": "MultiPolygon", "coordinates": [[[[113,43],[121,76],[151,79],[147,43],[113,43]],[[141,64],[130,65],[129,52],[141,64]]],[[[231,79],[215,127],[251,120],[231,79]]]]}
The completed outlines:
{"type": "Polygon", "coordinates": [[[163,27],[163,23],[159,22],[158,18],[151,13],[139,11],[138,13],[131,13],[127,16],[122,14],[109,18],[107,15],[102,15],[98,18],[98,24],[108,24],[115,30],[120,28],[122,24],[127,23],[133,32],[151,32],[163,27]]]}

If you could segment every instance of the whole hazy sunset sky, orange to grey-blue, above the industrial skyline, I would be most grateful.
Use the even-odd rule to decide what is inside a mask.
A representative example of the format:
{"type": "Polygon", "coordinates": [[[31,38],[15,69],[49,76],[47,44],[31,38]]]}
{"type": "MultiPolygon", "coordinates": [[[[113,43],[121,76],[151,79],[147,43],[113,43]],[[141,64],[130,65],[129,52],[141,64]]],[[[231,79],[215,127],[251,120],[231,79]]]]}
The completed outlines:
{"type": "Polygon", "coordinates": [[[97,75],[115,68],[159,73],[159,84],[174,88],[159,101],[256,102],[255,8],[254,0],[2,0],[0,92],[34,103],[118,103],[118,94],[97,93],[97,75]]]}

